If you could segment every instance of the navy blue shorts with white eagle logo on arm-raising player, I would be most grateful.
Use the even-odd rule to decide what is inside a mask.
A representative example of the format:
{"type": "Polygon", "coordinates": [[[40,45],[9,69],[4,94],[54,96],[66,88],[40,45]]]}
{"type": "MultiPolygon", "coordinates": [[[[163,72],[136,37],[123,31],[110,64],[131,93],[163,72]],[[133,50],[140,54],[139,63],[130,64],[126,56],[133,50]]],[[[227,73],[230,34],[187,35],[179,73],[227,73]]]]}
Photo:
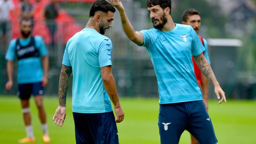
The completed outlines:
{"type": "Polygon", "coordinates": [[[158,127],[161,144],[178,144],[184,130],[190,132],[200,144],[218,142],[202,100],[160,104],[158,127]]]}

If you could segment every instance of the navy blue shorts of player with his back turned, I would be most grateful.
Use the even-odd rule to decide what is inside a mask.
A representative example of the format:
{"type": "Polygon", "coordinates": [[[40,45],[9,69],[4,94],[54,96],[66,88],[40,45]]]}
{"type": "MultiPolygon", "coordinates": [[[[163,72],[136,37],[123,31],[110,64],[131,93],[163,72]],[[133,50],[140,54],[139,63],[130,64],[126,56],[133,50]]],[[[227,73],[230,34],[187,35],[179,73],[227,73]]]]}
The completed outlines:
{"type": "Polygon", "coordinates": [[[83,114],[73,112],[76,144],[119,144],[113,112],[83,114]]]}

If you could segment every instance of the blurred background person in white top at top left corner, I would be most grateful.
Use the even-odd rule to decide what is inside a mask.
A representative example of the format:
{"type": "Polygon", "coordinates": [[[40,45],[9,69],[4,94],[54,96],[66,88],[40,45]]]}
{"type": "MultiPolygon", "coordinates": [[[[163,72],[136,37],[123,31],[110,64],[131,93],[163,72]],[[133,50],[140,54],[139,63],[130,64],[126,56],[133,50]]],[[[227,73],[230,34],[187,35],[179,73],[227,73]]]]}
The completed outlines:
{"type": "Polygon", "coordinates": [[[10,11],[14,9],[12,0],[0,0],[0,34],[2,33],[2,50],[6,46],[7,25],[10,22],[10,11]]]}

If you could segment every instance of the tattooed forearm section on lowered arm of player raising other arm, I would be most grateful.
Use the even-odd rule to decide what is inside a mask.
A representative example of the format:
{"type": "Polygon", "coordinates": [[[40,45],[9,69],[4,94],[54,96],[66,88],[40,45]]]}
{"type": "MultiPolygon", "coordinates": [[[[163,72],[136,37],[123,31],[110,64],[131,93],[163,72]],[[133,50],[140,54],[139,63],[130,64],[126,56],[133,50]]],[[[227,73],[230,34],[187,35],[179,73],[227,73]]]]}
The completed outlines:
{"type": "Polygon", "coordinates": [[[208,80],[210,80],[210,82],[216,80],[209,62],[206,60],[202,53],[198,56],[193,56],[193,58],[196,61],[196,64],[200,68],[201,72],[208,78],[208,80]]]}

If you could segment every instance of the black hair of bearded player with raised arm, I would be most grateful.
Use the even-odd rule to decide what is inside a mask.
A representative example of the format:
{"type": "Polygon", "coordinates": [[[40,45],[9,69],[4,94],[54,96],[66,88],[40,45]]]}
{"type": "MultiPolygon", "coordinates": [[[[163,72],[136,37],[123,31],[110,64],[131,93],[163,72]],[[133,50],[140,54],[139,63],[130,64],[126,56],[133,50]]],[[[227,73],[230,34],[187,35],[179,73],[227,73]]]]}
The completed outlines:
{"type": "Polygon", "coordinates": [[[160,7],[164,10],[166,8],[170,8],[170,15],[171,15],[171,9],[172,9],[172,0],[147,0],[146,2],[148,8],[151,8],[152,6],[160,5],[160,7]]]}

